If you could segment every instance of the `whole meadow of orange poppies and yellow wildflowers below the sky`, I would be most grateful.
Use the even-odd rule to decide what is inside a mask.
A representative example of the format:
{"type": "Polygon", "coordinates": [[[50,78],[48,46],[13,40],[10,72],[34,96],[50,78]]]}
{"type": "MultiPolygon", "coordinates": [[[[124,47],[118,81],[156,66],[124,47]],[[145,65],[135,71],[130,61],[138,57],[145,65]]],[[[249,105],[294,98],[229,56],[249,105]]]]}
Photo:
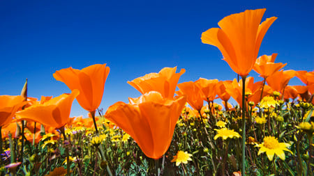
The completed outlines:
{"type": "Polygon", "coordinates": [[[313,175],[314,72],[259,56],[276,22],[262,22],[265,10],[229,15],[202,33],[233,80],[179,83],[188,68],[164,67],[128,81],[140,97],[103,111],[110,65],[96,64],[57,70],[70,89],[59,97],[29,97],[27,81],[21,95],[0,95],[1,175],[313,175]],[[288,86],[293,77],[306,86],[288,86]],[[74,99],[89,118],[70,118],[74,99]]]}

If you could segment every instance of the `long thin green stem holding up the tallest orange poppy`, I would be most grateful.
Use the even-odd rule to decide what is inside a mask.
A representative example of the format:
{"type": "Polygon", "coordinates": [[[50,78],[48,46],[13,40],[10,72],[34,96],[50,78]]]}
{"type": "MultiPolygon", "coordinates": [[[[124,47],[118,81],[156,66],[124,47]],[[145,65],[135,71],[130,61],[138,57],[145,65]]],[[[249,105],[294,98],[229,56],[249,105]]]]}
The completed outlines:
{"type": "Polygon", "coordinates": [[[242,76],[242,172],[246,175],[246,76],[242,76]]]}

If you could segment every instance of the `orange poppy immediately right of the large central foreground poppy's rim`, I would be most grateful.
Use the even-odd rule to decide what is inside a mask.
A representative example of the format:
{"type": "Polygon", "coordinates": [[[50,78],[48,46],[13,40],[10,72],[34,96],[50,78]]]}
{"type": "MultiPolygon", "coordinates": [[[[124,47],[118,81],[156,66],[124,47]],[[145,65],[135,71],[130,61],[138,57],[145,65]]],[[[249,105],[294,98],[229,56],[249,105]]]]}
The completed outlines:
{"type": "Polygon", "coordinates": [[[200,111],[204,104],[204,95],[202,90],[193,81],[188,81],[178,84],[177,95],[186,95],[188,104],[192,106],[193,109],[200,111]]]}

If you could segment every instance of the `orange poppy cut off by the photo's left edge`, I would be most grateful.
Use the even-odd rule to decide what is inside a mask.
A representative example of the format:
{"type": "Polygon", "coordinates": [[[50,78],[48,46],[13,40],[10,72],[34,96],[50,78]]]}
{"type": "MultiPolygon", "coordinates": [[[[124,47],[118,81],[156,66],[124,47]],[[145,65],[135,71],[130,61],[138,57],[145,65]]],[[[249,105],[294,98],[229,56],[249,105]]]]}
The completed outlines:
{"type": "Polygon", "coordinates": [[[15,112],[24,106],[24,97],[0,95],[0,127],[8,125],[15,115],[15,112]]]}

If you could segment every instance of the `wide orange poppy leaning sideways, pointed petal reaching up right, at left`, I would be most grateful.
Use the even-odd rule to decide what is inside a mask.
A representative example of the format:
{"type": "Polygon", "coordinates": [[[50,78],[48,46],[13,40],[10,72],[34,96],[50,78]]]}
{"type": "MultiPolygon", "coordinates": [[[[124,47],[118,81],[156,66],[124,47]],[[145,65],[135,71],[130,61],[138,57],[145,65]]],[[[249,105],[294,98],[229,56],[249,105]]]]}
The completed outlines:
{"type": "Polygon", "coordinates": [[[19,120],[32,120],[43,125],[60,129],[64,127],[70,118],[70,110],[73,100],[79,95],[79,90],[73,90],[72,93],[62,94],[54,97],[44,104],[35,104],[23,111],[16,113],[19,120]]]}

